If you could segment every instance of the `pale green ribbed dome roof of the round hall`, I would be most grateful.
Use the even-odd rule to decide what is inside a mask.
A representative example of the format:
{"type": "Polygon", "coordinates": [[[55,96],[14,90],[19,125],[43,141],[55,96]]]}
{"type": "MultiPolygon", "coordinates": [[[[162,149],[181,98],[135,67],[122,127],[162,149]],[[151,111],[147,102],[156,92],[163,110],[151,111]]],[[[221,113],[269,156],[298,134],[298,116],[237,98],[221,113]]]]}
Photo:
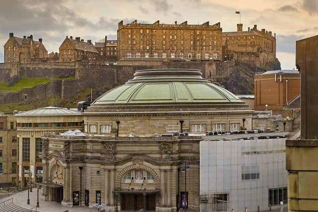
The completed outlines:
{"type": "Polygon", "coordinates": [[[244,104],[230,91],[202,78],[199,70],[136,71],[134,78],[96,99],[92,106],[122,104],[244,104]]]}

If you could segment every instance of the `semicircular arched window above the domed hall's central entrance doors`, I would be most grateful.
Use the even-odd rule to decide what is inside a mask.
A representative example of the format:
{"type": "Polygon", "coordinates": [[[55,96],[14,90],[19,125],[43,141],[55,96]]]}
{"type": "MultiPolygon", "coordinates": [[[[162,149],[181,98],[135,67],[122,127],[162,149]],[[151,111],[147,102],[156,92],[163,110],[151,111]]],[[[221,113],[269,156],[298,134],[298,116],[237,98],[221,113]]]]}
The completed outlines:
{"type": "Polygon", "coordinates": [[[123,183],[155,183],[155,177],[149,171],[133,169],[124,175],[123,183]]]}

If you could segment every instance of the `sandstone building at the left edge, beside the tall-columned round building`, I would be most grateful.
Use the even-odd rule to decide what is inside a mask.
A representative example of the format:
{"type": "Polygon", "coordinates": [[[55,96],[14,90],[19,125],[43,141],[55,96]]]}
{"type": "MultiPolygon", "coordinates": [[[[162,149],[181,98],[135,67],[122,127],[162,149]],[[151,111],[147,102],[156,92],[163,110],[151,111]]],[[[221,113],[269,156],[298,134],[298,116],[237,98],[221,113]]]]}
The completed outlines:
{"type": "Polygon", "coordinates": [[[0,112],[0,184],[14,186],[17,173],[17,138],[13,113],[0,112]]]}

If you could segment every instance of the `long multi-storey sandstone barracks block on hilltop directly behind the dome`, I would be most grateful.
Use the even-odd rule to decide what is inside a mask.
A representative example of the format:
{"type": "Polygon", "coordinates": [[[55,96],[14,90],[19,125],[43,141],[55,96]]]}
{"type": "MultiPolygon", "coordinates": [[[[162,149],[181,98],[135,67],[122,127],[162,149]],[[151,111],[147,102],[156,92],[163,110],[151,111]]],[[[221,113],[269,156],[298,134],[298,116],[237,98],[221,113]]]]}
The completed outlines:
{"type": "Polygon", "coordinates": [[[118,23],[117,60],[137,58],[222,60],[222,28],[210,25],[118,23]]]}

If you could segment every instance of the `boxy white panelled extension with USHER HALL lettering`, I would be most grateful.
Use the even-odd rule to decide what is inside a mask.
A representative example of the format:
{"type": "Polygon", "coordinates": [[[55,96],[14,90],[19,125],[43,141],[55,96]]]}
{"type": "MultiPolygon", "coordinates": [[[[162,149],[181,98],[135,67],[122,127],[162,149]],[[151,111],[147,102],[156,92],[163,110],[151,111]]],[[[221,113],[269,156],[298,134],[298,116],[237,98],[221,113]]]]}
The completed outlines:
{"type": "Polygon", "coordinates": [[[287,204],[286,133],[200,142],[200,212],[267,211],[287,204]]]}

